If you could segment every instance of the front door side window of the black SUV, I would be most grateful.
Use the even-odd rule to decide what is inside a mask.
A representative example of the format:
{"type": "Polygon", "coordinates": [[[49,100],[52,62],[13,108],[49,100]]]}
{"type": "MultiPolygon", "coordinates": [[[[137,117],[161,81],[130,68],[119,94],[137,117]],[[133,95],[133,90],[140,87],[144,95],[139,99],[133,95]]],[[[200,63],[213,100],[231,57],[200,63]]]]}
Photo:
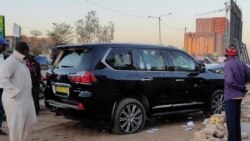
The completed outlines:
{"type": "Polygon", "coordinates": [[[196,63],[194,60],[186,55],[185,53],[179,51],[171,51],[169,57],[172,61],[171,70],[174,71],[194,71],[196,63]]]}

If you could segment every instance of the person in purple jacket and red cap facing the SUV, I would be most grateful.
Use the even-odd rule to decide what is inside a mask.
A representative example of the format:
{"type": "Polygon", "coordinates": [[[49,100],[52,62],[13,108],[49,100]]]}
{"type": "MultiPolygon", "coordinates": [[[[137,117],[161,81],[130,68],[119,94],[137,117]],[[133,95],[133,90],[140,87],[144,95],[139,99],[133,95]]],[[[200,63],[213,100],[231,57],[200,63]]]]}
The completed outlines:
{"type": "Polygon", "coordinates": [[[250,69],[237,58],[238,51],[234,45],[226,49],[224,66],[224,98],[228,141],[241,141],[241,101],[245,96],[245,84],[249,82],[250,69]]]}

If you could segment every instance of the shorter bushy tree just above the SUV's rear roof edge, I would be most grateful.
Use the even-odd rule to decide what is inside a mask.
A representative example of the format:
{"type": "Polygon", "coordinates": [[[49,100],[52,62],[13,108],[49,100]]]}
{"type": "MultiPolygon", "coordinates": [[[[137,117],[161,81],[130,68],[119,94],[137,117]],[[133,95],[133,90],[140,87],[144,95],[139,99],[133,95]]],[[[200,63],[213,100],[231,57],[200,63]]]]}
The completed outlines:
{"type": "Polygon", "coordinates": [[[69,44],[73,41],[73,32],[70,25],[66,23],[52,23],[54,25],[53,31],[48,31],[48,37],[52,38],[56,45],[69,44]]]}

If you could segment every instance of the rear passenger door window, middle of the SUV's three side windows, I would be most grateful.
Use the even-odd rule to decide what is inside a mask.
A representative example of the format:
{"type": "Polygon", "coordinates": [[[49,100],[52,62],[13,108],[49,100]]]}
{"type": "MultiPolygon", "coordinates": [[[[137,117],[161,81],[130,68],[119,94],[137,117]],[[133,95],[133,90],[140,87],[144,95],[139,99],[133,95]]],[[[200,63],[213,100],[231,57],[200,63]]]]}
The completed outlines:
{"type": "Polygon", "coordinates": [[[139,69],[148,71],[164,71],[164,57],[160,50],[139,50],[139,69]]]}

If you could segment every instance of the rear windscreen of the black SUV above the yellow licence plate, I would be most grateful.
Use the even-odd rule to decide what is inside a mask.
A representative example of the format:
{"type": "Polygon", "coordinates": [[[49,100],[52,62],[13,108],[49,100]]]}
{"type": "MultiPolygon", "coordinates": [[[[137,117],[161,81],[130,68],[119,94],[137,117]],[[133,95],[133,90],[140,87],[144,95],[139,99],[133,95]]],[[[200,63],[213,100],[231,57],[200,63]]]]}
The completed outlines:
{"type": "Polygon", "coordinates": [[[81,48],[81,49],[65,49],[61,50],[60,62],[58,64],[59,68],[77,68],[84,65],[84,68],[89,64],[91,49],[81,48]]]}

